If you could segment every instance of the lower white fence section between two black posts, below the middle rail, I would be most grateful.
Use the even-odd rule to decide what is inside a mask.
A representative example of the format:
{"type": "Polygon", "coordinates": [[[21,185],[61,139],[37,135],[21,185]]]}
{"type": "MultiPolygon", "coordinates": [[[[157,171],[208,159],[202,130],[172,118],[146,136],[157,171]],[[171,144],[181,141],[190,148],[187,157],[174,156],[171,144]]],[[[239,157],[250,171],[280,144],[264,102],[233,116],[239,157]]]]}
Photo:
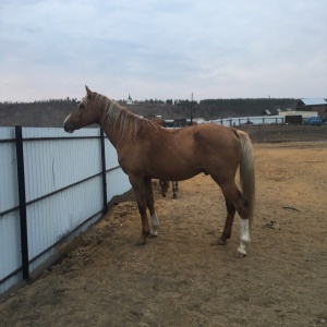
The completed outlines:
{"type": "MultiPolygon", "coordinates": [[[[74,185],[50,197],[27,206],[28,256],[38,257],[40,253],[63,240],[72,230],[81,226],[85,218],[101,216],[101,180],[74,185]]],[[[96,220],[95,219],[95,220],[96,220]]],[[[94,220],[93,220],[94,221],[94,220]]],[[[31,270],[50,257],[55,252],[47,251],[31,264],[31,270]]]]}

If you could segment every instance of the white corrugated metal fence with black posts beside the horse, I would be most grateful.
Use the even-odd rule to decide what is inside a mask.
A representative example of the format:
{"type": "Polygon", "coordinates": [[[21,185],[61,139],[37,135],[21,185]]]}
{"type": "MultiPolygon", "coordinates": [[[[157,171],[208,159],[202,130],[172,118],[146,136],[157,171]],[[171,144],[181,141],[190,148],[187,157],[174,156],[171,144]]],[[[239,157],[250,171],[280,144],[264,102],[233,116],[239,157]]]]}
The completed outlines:
{"type": "Polygon", "coordinates": [[[130,189],[99,129],[0,128],[0,293],[130,189]]]}

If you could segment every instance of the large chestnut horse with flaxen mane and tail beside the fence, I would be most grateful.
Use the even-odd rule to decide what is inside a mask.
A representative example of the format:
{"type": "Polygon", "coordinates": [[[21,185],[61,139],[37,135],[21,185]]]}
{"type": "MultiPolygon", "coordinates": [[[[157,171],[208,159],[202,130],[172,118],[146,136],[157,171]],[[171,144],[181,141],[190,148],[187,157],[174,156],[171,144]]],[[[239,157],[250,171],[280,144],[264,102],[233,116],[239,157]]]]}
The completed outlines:
{"type": "Polygon", "coordinates": [[[231,237],[238,211],[240,246],[235,256],[246,256],[245,245],[251,241],[255,184],[249,135],[215,123],[166,130],[85,87],[86,96],[64,120],[63,128],[72,133],[98,123],[116,147],[119,164],[129,175],[135,192],[142,218],[142,233],[136,244],[145,244],[148,235],[158,234],[159,220],[154,206],[152,179],[182,181],[204,172],[220,186],[226,199],[227,219],[217,243],[225,245],[231,237]],[[242,193],[234,181],[238,167],[242,193]]]}

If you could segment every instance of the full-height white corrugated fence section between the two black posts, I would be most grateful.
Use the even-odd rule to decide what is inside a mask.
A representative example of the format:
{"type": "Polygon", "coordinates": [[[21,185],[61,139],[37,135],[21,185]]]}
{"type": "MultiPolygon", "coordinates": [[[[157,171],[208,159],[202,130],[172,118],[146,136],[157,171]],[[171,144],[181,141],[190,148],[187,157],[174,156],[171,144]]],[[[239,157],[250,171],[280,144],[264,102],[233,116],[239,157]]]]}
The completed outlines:
{"type": "MultiPolygon", "coordinates": [[[[98,129],[84,130],[83,136],[92,138],[82,140],[77,138],[81,131],[72,140],[61,129],[23,129],[23,132],[27,203],[101,172],[98,129]]],[[[27,205],[31,259],[74,230],[85,217],[101,211],[100,177],[63,193],[64,196],[56,193],[27,205]],[[65,211],[62,208],[66,208],[65,211]],[[58,220],[58,217],[63,219],[58,220]]],[[[50,255],[48,252],[40,261],[50,255]]],[[[38,262],[33,263],[32,270],[38,262]]]]}

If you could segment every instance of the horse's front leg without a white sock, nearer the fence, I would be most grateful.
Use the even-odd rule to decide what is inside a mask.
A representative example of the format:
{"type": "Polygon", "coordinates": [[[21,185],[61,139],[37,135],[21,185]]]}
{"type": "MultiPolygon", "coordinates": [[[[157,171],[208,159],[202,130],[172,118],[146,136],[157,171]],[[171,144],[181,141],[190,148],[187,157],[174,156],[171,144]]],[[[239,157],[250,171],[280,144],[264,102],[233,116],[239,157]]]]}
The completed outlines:
{"type": "Polygon", "coordinates": [[[138,211],[142,220],[142,232],[140,239],[136,241],[135,245],[144,245],[146,243],[146,238],[150,233],[148,218],[146,214],[147,199],[146,199],[146,183],[143,178],[129,175],[130,182],[135,193],[138,211]]]}

